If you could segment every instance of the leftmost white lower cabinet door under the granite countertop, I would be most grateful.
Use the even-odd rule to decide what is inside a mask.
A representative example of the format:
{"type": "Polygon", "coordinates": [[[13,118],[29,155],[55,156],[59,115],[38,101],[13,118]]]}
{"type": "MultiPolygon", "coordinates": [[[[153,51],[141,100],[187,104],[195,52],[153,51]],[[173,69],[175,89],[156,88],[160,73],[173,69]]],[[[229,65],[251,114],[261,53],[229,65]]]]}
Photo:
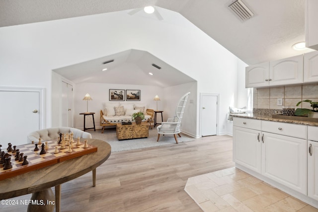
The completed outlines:
{"type": "Polygon", "coordinates": [[[261,173],[261,132],[233,127],[234,162],[261,173]]]}

